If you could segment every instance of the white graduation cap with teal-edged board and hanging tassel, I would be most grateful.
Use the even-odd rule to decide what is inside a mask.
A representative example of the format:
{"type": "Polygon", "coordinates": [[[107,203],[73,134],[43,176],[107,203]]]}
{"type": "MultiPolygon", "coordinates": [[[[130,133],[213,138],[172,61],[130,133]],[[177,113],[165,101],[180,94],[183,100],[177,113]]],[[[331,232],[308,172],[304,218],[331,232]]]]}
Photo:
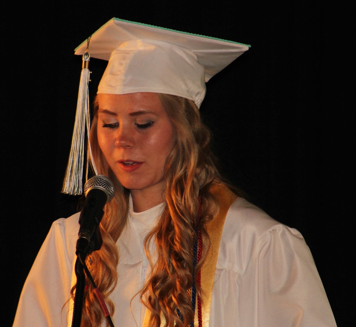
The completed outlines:
{"type": "MultiPolygon", "coordinates": [[[[85,116],[85,113],[78,114],[80,110],[88,112],[89,116],[88,91],[83,90],[89,82],[90,57],[108,60],[97,93],[167,93],[193,100],[200,107],[206,92],[205,83],[249,47],[233,41],[112,18],[75,49],[75,54],[83,55],[85,70],[85,77],[83,71],[81,76],[78,119],[85,116]]],[[[85,129],[83,119],[77,120],[75,130],[83,138],[82,129],[85,129]]],[[[74,143],[78,143],[78,137],[73,133],[72,149],[78,152],[78,145],[74,143]]],[[[63,193],[81,194],[81,181],[75,187],[76,191],[68,186],[72,183],[70,180],[78,178],[78,163],[83,165],[81,148],[76,163],[73,156],[77,155],[72,154],[73,150],[71,152],[63,193]]],[[[96,172],[95,165],[93,168],[96,172]]],[[[79,175],[81,178],[80,172],[79,175]]]]}

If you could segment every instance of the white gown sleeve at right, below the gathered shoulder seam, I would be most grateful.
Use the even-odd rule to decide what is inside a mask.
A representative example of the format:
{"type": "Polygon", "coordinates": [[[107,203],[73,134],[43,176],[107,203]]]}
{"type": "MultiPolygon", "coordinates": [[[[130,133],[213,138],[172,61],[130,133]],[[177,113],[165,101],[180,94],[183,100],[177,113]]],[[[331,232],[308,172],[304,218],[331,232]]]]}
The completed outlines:
{"type": "Polygon", "coordinates": [[[336,326],[302,235],[282,224],[257,240],[239,285],[240,326],[336,326]]]}

